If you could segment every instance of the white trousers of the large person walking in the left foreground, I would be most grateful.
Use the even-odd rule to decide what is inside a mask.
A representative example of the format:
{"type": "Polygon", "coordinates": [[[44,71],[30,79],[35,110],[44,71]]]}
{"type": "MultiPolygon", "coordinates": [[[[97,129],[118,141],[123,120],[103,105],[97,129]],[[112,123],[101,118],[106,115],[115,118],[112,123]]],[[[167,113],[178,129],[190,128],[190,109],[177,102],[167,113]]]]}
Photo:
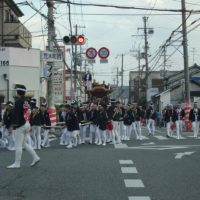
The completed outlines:
{"type": "Polygon", "coordinates": [[[32,156],[33,160],[39,159],[31,145],[26,143],[26,134],[28,129],[30,129],[30,124],[26,122],[24,126],[21,126],[15,130],[15,164],[17,165],[20,165],[23,147],[32,156]]]}

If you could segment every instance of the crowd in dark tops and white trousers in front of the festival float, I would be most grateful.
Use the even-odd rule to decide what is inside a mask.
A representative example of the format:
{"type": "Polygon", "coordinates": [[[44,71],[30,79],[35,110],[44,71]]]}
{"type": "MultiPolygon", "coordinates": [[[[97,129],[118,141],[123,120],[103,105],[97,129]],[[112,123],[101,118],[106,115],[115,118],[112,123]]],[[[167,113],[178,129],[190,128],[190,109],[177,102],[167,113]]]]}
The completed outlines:
{"type": "MultiPolygon", "coordinates": [[[[47,105],[41,104],[40,108],[38,108],[37,101],[34,98],[31,99],[29,105],[30,114],[25,121],[29,122],[30,129],[26,130],[23,145],[26,146],[28,144],[32,149],[37,150],[50,147],[49,131],[51,122],[47,112],[47,105]]],[[[13,130],[10,131],[12,119],[16,117],[13,111],[15,111],[13,102],[1,103],[0,147],[16,151],[16,134],[19,134],[21,127],[12,127],[13,130]]],[[[102,102],[92,102],[81,104],[80,106],[75,101],[70,105],[60,106],[58,126],[54,128],[59,127],[59,129],[56,129],[56,133],[60,136],[59,143],[60,145],[65,145],[68,149],[85,144],[87,140],[89,140],[89,144],[102,146],[120,144],[131,139],[142,140],[142,127],[144,126],[146,126],[147,136],[149,137],[155,136],[157,125],[166,127],[166,131],[163,131],[163,134],[166,133],[167,138],[172,137],[175,132],[176,138],[181,139],[185,121],[185,111],[181,108],[181,105],[178,104],[174,107],[167,105],[161,116],[162,118],[158,116],[153,104],[145,109],[136,103],[125,106],[119,101],[111,101],[109,105],[102,102]],[[162,125],[160,125],[161,121],[162,125]]],[[[190,110],[189,120],[192,124],[193,136],[198,138],[200,109],[196,102],[190,110]]],[[[32,152],[32,154],[37,158],[36,160],[39,160],[35,153],[32,152]]]]}

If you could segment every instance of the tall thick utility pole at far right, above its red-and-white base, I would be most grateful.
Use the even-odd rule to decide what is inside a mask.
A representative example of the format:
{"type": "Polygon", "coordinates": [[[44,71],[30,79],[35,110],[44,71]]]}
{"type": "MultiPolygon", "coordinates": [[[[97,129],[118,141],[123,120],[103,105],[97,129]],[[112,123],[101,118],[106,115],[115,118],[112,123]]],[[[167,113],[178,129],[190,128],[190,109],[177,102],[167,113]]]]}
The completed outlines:
{"type": "Polygon", "coordinates": [[[188,63],[188,40],[186,25],[186,8],[185,0],[181,0],[182,4],[182,34],[183,34],[183,59],[184,59],[184,76],[185,76],[185,101],[190,104],[190,80],[189,80],[189,63],[188,63]]]}

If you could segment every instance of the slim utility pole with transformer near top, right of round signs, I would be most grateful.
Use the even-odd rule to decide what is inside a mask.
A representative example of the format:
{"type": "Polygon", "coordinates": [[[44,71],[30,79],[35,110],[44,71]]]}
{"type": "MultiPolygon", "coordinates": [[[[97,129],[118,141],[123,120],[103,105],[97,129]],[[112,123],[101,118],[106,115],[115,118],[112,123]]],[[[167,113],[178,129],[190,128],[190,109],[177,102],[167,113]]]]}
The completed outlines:
{"type": "Polygon", "coordinates": [[[146,102],[147,102],[147,92],[148,92],[148,89],[149,89],[149,62],[148,62],[149,45],[148,45],[148,39],[147,39],[147,21],[148,21],[148,17],[143,17],[143,21],[144,21],[144,39],[145,39],[144,50],[145,50],[145,66],[146,66],[145,80],[146,80],[146,102]]]}

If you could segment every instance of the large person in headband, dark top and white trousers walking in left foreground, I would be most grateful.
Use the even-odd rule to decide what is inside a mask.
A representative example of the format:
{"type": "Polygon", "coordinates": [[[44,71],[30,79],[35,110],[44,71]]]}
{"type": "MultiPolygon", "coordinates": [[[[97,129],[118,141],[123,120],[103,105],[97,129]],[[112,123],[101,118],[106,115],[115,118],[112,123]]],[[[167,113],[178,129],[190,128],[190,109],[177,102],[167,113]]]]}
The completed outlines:
{"type": "Polygon", "coordinates": [[[35,166],[40,161],[39,156],[36,154],[33,148],[26,143],[25,140],[26,134],[30,130],[30,124],[28,121],[25,120],[24,117],[24,115],[26,114],[24,113],[24,105],[26,104],[26,87],[24,85],[17,84],[16,91],[19,99],[15,102],[11,125],[8,129],[9,133],[13,133],[15,129],[15,162],[7,167],[9,169],[20,168],[23,147],[32,156],[33,161],[30,165],[31,167],[35,166]]]}

